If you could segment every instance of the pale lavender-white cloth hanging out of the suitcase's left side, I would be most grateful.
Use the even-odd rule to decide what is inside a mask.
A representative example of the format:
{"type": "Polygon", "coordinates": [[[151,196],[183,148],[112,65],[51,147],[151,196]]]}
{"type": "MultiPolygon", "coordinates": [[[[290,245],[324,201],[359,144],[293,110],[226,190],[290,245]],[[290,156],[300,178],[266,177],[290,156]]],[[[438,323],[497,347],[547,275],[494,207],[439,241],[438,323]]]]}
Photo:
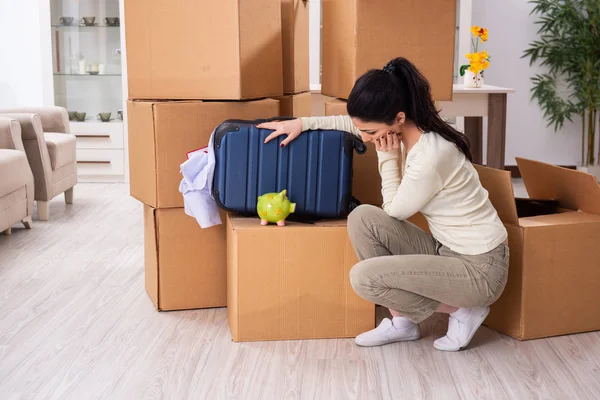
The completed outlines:
{"type": "Polygon", "coordinates": [[[215,172],[213,134],[205,151],[195,151],[181,164],[183,179],[179,191],[183,194],[185,213],[196,218],[202,228],[221,224],[219,208],[212,197],[212,180],[215,172]]]}

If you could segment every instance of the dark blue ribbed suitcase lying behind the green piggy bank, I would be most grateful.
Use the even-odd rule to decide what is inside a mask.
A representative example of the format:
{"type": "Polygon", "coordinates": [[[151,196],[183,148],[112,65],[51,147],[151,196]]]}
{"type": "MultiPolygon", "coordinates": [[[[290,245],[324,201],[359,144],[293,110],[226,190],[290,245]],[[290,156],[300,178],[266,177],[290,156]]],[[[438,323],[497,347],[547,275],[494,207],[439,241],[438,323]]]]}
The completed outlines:
{"type": "Polygon", "coordinates": [[[290,219],[345,217],[358,204],[352,197],[354,151],[364,143],[336,130],[303,132],[286,147],[281,135],[263,143],[272,132],[257,124],[268,120],[227,120],[214,132],[213,197],[226,211],[256,215],[258,196],[287,190],[296,203],[290,219]]]}

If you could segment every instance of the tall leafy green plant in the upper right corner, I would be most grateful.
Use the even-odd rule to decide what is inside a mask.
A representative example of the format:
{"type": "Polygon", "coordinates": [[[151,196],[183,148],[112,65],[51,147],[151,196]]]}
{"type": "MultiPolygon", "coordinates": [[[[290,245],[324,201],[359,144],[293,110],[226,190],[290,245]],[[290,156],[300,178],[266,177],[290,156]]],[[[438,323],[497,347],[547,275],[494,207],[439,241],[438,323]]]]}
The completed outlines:
{"type": "Polygon", "coordinates": [[[548,126],[581,118],[581,164],[578,169],[600,178],[600,149],[595,153],[600,109],[600,1],[533,0],[539,15],[539,38],[523,57],[539,62],[545,73],[531,78],[532,100],[544,111],[548,126]]]}

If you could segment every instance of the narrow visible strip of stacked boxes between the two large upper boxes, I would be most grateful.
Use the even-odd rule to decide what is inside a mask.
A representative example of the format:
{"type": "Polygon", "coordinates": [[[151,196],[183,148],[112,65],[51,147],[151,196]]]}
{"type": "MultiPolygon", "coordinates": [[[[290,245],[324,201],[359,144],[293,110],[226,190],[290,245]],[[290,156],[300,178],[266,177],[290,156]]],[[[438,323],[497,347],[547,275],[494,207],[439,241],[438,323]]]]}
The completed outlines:
{"type": "Polygon", "coordinates": [[[281,0],[283,48],[283,96],[277,97],[279,114],[308,117],[311,114],[309,84],[309,2],[281,0]]]}

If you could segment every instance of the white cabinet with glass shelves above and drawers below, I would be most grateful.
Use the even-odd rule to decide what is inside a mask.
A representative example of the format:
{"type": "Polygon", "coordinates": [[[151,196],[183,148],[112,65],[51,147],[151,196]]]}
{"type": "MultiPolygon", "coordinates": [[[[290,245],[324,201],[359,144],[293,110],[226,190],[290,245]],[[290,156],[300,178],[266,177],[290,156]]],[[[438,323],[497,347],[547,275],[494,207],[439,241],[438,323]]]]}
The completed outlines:
{"type": "Polygon", "coordinates": [[[128,179],[122,14],[122,0],[50,1],[54,104],[85,113],[70,121],[80,182],[128,179]]]}

